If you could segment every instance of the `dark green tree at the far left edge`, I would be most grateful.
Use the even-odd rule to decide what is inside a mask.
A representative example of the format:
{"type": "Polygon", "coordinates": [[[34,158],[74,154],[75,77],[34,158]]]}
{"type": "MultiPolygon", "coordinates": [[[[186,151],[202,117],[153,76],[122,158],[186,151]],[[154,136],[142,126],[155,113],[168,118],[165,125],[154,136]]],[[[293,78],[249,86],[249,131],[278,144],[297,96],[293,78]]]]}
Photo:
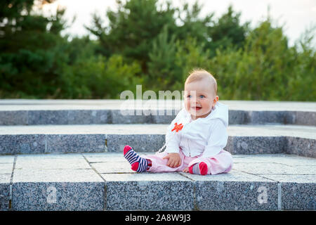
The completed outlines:
{"type": "Polygon", "coordinates": [[[0,1],[1,96],[35,98],[55,91],[58,58],[52,49],[62,41],[65,11],[45,18],[33,6],[31,0],[0,1]]]}

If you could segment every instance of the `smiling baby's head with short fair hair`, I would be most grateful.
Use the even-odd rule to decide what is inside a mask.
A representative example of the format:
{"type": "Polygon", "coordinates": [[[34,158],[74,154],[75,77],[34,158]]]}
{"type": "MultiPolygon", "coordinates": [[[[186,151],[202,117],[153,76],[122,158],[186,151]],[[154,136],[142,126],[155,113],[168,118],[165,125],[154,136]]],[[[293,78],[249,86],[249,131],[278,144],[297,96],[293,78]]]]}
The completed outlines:
{"type": "Polygon", "coordinates": [[[193,120],[206,117],[218,101],[216,79],[206,70],[193,70],[185,80],[184,99],[193,120]]]}

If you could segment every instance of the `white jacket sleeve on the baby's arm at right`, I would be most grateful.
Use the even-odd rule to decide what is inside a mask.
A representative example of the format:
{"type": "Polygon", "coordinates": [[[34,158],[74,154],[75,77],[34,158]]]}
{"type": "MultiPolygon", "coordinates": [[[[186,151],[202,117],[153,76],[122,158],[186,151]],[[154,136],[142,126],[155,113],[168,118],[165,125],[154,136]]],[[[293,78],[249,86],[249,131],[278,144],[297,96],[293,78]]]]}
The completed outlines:
{"type": "Polygon", "coordinates": [[[217,155],[220,150],[225,148],[228,141],[227,127],[221,120],[214,120],[210,127],[210,136],[207,145],[204,148],[202,158],[210,158],[217,155]]]}

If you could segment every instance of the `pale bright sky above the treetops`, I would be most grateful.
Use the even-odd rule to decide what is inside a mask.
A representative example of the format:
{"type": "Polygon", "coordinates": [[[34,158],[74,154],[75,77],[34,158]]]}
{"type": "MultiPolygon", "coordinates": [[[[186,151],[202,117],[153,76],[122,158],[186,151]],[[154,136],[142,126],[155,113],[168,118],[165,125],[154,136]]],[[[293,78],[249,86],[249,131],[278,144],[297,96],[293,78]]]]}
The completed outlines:
{"type": "MultiPolygon", "coordinates": [[[[173,6],[182,6],[184,2],[192,5],[195,0],[172,1],[173,6]]],[[[223,15],[228,6],[232,5],[235,12],[241,13],[241,23],[251,21],[251,27],[256,27],[267,17],[268,6],[270,6],[270,17],[277,25],[283,25],[290,45],[294,44],[306,29],[316,25],[316,0],[198,0],[198,2],[203,4],[201,15],[215,13],[215,19],[223,15]]],[[[107,8],[114,11],[117,9],[115,0],[57,0],[53,4],[44,6],[44,11],[50,13],[58,6],[66,8],[65,18],[68,21],[72,21],[76,15],[76,20],[64,31],[64,34],[79,37],[88,34],[84,25],[92,24],[92,13],[98,13],[105,20],[107,8]]]]}

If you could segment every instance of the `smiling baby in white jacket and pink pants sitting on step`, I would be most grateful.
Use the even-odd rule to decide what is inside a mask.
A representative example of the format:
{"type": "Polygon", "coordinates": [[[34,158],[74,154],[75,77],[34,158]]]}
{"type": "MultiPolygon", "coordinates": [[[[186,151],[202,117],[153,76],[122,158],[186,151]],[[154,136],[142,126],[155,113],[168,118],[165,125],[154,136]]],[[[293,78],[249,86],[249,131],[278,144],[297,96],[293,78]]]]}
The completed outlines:
{"type": "Polygon", "coordinates": [[[185,81],[185,108],[166,133],[166,150],[140,157],[130,146],[124,158],[136,172],[220,174],[232,169],[228,141],[228,106],[218,102],[216,79],[206,70],[194,70],[185,81]]]}

